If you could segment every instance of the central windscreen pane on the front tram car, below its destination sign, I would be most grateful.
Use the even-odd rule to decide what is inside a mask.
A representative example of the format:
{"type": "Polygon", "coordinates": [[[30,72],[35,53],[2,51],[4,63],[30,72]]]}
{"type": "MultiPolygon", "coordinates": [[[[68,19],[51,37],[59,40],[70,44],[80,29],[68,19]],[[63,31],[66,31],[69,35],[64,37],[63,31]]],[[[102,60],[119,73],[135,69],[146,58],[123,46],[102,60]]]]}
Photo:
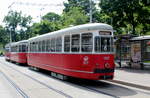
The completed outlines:
{"type": "Polygon", "coordinates": [[[111,38],[110,37],[101,37],[101,51],[110,52],[111,50],[111,38]]]}

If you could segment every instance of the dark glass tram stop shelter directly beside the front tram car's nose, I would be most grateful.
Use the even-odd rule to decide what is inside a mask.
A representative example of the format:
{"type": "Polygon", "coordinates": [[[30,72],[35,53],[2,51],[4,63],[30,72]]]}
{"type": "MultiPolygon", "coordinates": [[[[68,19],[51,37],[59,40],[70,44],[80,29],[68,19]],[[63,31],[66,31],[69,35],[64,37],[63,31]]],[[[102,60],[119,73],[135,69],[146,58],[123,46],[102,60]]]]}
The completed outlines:
{"type": "Polygon", "coordinates": [[[121,34],[115,36],[115,62],[119,64],[119,67],[122,67],[122,62],[129,64],[130,54],[131,54],[131,45],[130,39],[136,37],[132,34],[121,34]]]}

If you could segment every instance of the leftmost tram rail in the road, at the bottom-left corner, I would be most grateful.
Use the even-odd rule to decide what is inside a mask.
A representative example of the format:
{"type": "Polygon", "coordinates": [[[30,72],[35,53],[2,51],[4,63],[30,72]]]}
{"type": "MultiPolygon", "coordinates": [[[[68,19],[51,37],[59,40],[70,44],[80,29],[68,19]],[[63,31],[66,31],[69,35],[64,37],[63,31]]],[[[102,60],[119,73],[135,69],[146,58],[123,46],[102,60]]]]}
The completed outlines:
{"type": "Polygon", "coordinates": [[[0,70],[0,74],[16,89],[23,98],[30,98],[19,86],[0,70]]]}

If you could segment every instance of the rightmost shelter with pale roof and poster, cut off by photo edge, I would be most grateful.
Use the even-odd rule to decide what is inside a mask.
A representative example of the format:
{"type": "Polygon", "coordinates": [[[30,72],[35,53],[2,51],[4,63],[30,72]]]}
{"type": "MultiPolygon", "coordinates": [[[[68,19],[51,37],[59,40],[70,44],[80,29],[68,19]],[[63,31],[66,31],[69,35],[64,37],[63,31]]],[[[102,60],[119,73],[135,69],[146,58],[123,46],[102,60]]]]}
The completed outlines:
{"type": "Polygon", "coordinates": [[[134,37],[130,41],[130,67],[144,69],[145,66],[150,66],[150,36],[134,37]]]}

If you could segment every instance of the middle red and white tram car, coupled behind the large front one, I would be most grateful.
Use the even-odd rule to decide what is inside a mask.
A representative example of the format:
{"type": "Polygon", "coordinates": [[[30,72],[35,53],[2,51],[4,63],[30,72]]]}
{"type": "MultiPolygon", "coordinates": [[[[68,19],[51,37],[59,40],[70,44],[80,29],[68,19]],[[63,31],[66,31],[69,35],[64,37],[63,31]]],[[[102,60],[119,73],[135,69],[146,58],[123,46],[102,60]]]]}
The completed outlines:
{"type": "Polygon", "coordinates": [[[27,40],[11,43],[10,61],[23,64],[27,63],[27,45],[27,40]]]}

